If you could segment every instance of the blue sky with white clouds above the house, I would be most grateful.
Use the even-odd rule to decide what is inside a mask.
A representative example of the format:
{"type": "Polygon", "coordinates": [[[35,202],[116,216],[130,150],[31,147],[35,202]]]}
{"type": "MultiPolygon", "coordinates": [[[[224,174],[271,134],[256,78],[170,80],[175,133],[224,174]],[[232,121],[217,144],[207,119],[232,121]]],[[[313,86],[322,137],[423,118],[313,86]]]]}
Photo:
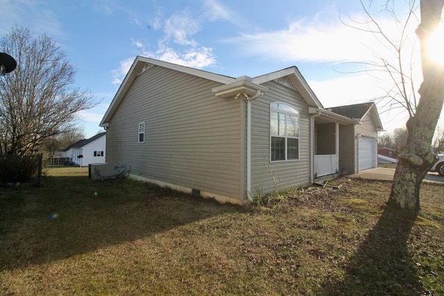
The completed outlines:
{"type": "MultiPolygon", "coordinates": [[[[383,9],[386,0],[362,1],[391,40],[400,40],[407,2],[391,6],[397,23],[383,9]]],[[[366,63],[377,56],[396,60],[365,32],[359,0],[0,0],[0,7],[0,37],[15,26],[45,33],[76,67],[76,86],[101,101],[78,114],[87,138],[101,130],[137,55],[234,78],[296,66],[326,108],[372,101],[393,86],[386,73],[368,71],[366,63]]],[[[406,69],[413,69],[418,87],[418,17],[412,19],[404,48],[413,51],[406,69]]],[[[377,101],[384,130],[403,128],[407,112],[386,102],[377,101]]]]}

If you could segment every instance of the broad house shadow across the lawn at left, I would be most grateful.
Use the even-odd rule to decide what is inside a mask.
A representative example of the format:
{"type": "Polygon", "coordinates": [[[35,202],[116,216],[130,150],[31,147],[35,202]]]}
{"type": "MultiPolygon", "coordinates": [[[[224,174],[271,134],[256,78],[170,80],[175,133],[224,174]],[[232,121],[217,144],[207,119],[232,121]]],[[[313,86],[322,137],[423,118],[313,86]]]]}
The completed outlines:
{"type": "Polygon", "coordinates": [[[0,196],[0,213],[5,214],[0,218],[0,270],[65,259],[246,211],[128,179],[46,177],[46,185],[0,196]]]}

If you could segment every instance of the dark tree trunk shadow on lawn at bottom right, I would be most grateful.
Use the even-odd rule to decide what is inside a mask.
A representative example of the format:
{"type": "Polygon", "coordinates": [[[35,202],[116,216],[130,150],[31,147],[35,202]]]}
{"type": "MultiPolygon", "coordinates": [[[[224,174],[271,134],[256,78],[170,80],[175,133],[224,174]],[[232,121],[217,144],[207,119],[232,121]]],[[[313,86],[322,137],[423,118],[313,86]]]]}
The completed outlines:
{"type": "Polygon", "coordinates": [[[422,295],[407,243],[412,220],[385,206],[377,225],[345,267],[339,282],[326,281],[322,295],[422,295]]]}

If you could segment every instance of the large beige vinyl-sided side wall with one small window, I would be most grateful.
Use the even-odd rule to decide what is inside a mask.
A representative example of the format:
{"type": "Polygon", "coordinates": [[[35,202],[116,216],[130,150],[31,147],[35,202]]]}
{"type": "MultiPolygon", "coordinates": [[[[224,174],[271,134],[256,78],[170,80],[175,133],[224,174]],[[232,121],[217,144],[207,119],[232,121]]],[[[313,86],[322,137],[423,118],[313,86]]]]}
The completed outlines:
{"type": "Polygon", "coordinates": [[[110,120],[107,162],[151,180],[243,198],[240,100],[214,96],[219,85],[162,67],[137,76],[110,120]],[[145,143],[137,143],[141,122],[145,143]]]}

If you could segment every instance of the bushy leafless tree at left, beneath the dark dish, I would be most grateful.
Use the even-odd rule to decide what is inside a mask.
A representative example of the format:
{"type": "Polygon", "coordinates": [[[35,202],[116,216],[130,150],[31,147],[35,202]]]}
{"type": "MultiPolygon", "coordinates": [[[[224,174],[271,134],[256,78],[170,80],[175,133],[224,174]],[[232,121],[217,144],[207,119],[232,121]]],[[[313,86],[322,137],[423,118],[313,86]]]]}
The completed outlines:
{"type": "Polygon", "coordinates": [[[45,139],[62,134],[76,112],[94,107],[94,96],[73,87],[76,69],[50,37],[13,28],[0,49],[17,60],[0,78],[0,153],[35,152],[45,139]]]}

